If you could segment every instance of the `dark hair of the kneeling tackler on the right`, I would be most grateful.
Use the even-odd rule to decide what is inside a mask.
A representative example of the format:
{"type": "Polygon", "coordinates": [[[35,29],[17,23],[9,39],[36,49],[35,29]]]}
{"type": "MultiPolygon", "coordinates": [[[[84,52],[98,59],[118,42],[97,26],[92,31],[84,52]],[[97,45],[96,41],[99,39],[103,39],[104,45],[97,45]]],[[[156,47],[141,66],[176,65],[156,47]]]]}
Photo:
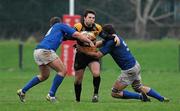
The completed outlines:
{"type": "Polygon", "coordinates": [[[104,32],[106,32],[110,35],[116,33],[114,26],[112,24],[105,24],[102,29],[104,32]]]}

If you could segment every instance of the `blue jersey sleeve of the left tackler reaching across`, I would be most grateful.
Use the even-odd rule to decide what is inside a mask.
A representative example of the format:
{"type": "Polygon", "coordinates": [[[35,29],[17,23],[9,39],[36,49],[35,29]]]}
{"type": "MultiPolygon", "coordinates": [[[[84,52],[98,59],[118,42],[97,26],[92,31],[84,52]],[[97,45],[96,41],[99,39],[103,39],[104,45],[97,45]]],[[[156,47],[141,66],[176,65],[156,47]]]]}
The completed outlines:
{"type": "Polygon", "coordinates": [[[72,35],[74,34],[74,32],[76,32],[76,30],[74,28],[71,28],[70,26],[63,24],[62,25],[62,30],[65,33],[65,35],[67,37],[72,37],[72,35]]]}

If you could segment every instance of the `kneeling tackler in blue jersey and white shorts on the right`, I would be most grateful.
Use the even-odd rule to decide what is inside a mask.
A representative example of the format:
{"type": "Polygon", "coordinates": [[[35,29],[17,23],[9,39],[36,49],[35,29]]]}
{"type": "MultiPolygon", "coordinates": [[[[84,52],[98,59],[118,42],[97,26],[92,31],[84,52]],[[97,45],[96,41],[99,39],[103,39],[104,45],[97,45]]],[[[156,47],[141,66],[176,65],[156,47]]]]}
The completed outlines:
{"type": "Polygon", "coordinates": [[[168,98],[161,96],[152,88],[144,86],[141,83],[141,67],[134,56],[131,54],[124,40],[120,36],[116,35],[113,26],[110,24],[104,25],[102,33],[105,37],[105,41],[100,41],[97,43],[97,45],[103,44],[103,47],[100,48],[99,51],[85,52],[80,47],[78,47],[78,50],[96,58],[100,58],[109,53],[117,65],[121,68],[121,75],[115,81],[112,88],[112,97],[150,101],[148,96],[151,96],[161,102],[168,102],[168,98]],[[110,39],[112,36],[119,37],[120,46],[115,46],[114,41],[110,39]],[[138,93],[124,90],[128,85],[131,85],[132,88],[138,93]]]}

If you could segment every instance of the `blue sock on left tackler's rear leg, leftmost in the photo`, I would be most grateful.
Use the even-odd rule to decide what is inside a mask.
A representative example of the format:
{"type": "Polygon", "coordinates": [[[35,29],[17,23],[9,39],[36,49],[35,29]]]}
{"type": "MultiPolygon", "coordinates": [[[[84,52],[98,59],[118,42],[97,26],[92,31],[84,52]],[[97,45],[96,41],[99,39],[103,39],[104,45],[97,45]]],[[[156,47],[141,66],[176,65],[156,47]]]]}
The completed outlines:
{"type": "Polygon", "coordinates": [[[39,80],[39,78],[37,76],[35,76],[34,78],[32,78],[22,89],[23,93],[26,93],[30,88],[32,88],[33,86],[39,84],[41,81],[39,80]]]}

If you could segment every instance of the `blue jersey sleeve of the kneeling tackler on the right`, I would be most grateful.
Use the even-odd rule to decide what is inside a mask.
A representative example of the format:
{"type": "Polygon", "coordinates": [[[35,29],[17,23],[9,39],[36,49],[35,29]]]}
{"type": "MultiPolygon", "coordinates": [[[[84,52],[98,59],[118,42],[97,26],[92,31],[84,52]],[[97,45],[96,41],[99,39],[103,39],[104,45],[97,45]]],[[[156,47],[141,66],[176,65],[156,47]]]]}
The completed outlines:
{"type": "Polygon", "coordinates": [[[113,40],[108,40],[104,43],[103,47],[99,49],[103,53],[103,55],[106,55],[107,53],[111,52],[112,48],[115,47],[113,40]]]}

